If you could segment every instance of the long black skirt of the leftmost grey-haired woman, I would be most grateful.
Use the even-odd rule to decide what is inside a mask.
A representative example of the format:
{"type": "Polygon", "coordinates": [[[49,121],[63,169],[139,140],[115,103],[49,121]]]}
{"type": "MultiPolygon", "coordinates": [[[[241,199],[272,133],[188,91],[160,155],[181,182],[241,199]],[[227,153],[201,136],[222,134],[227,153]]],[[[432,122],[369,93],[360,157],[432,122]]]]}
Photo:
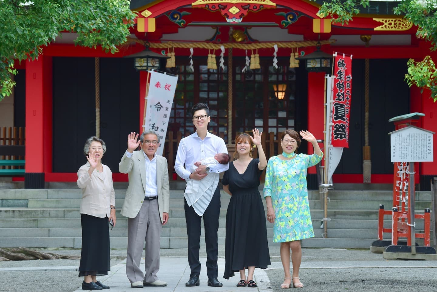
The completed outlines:
{"type": "Polygon", "coordinates": [[[108,275],[111,271],[109,254],[108,217],[80,214],[82,224],[82,252],[79,277],[108,275]]]}

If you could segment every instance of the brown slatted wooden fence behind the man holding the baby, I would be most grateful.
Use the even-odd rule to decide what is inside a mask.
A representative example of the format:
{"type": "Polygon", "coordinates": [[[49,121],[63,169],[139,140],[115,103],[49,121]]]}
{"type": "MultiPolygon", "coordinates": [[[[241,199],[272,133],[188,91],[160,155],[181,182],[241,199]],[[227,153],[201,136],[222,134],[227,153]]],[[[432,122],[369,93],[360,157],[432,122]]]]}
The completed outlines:
{"type": "MultiPolygon", "coordinates": [[[[275,156],[278,153],[282,153],[281,148],[281,141],[280,139],[274,138],[274,132],[270,132],[267,135],[263,135],[261,137],[261,145],[263,146],[264,153],[266,153],[267,160],[271,156],[275,156]]],[[[221,138],[224,137],[224,133],[219,133],[218,136],[221,138]]],[[[165,140],[164,145],[164,153],[163,155],[167,158],[168,162],[168,171],[171,177],[171,174],[173,174],[174,171],[174,162],[176,159],[176,152],[177,152],[177,146],[179,145],[180,140],[182,139],[182,133],[181,132],[167,132],[167,139],[165,140]]],[[[235,144],[226,144],[228,147],[229,155],[232,157],[233,153],[235,152],[235,144]]],[[[253,148],[252,151],[253,158],[258,157],[258,151],[257,148],[253,148]]],[[[180,179],[177,177],[177,179],[180,179]]],[[[261,180],[264,180],[264,173],[261,177],[261,180]]]]}

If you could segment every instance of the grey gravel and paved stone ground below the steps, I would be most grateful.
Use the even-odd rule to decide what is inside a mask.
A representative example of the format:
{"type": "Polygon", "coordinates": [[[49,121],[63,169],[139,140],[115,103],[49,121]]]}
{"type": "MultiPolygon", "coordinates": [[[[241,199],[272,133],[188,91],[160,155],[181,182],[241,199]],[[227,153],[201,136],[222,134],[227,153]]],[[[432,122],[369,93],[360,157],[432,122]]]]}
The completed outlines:
{"type": "MultiPolygon", "coordinates": [[[[80,250],[47,250],[58,254],[79,255],[80,250]]],[[[175,257],[174,261],[185,261],[186,249],[162,249],[161,257],[175,257]],[[178,257],[178,258],[176,258],[178,257]]],[[[122,268],[119,268],[126,256],[126,250],[111,250],[111,267],[118,267],[118,277],[123,282],[125,277],[122,268]],[[117,265],[117,266],[116,266],[117,265]]],[[[205,257],[205,250],[201,250],[201,257],[205,257]]],[[[437,261],[404,261],[384,260],[382,254],[373,254],[369,250],[347,249],[303,249],[300,277],[305,287],[302,291],[317,292],[413,292],[437,291],[436,268],[437,261]]],[[[224,246],[219,246],[219,257],[224,257],[224,246]]],[[[169,261],[166,261],[169,262],[169,261]]],[[[171,261],[170,261],[171,262],[171,261]]],[[[265,283],[259,289],[250,288],[211,288],[205,284],[196,289],[180,289],[161,291],[284,291],[280,288],[284,277],[279,249],[271,247],[271,262],[267,270],[259,270],[257,275],[267,275],[265,283]],[[183,290],[181,290],[183,289],[183,290]]],[[[0,262],[0,291],[5,292],[73,292],[80,288],[82,278],[76,271],[79,260],[44,260],[44,261],[7,261],[0,262]]],[[[168,264],[166,266],[168,267],[168,264]]],[[[163,267],[161,267],[163,269],[163,267]]],[[[161,273],[161,272],[160,272],[161,273]]],[[[180,278],[184,271],[174,271],[180,278]]],[[[160,274],[158,274],[160,275],[160,274]]],[[[108,276],[109,277],[109,276],[108,276]]],[[[112,276],[114,277],[114,276],[112,276]]],[[[169,277],[169,276],[167,276],[169,277]]],[[[104,278],[104,277],[102,277],[104,278]]],[[[110,282],[111,277],[105,278],[110,282]]],[[[170,282],[171,279],[163,279],[170,282]]],[[[201,280],[206,281],[206,275],[201,275],[201,280]]],[[[219,280],[224,281],[221,275],[219,280]]],[[[238,282],[238,275],[229,281],[238,282]]],[[[185,279],[180,279],[185,281],[185,279]]],[[[113,287],[109,291],[131,291],[128,279],[125,278],[125,287],[113,287]]],[[[178,284],[179,285],[179,284],[178,284]]],[[[179,286],[178,286],[179,287],[179,286]]],[[[136,290],[133,290],[136,291],[136,290]]],[[[146,287],[140,291],[160,291],[160,288],[146,287]]],[[[299,290],[300,291],[300,290],[299,290]]]]}

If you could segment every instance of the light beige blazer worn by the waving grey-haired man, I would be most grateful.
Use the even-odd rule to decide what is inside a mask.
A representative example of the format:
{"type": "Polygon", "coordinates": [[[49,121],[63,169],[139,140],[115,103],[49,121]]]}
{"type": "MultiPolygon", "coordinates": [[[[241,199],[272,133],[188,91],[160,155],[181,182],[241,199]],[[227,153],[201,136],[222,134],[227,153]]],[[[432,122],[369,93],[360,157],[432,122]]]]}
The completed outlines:
{"type": "MultiPolygon", "coordinates": [[[[121,215],[135,218],[141,208],[146,194],[146,162],[142,150],[134,151],[132,157],[121,157],[118,170],[128,174],[129,185],[126,191],[125,201],[121,208],[121,215]]],[[[163,212],[169,212],[170,186],[168,182],[167,160],[165,157],[156,155],[156,187],[158,189],[158,208],[163,222],[163,212]]]]}

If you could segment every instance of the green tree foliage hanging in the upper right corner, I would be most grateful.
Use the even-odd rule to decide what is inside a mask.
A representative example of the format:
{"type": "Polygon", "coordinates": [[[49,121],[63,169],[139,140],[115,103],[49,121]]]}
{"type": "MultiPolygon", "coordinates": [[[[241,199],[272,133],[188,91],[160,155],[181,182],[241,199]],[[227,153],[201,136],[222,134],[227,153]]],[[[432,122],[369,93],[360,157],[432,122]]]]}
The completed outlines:
{"type": "MultiPolygon", "coordinates": [[[[348,24],[354,15],[360,13],[360,6],[367,7],[368,0],[330,0],[323,2],[319,15],[333,17],[334,23],[348,24]]],[[[437,0],[401,0],[394,13],[403,15],[404,19],[417,26],[416,36],[430,42],[431,51],[437,49],[437,0]]],[[[423,61],[407,62],[408,74],[405,80],[411,87],[413,84],[431,91],[431,98],[437,101],[437,70],[430,56],[423,61]]]]}

